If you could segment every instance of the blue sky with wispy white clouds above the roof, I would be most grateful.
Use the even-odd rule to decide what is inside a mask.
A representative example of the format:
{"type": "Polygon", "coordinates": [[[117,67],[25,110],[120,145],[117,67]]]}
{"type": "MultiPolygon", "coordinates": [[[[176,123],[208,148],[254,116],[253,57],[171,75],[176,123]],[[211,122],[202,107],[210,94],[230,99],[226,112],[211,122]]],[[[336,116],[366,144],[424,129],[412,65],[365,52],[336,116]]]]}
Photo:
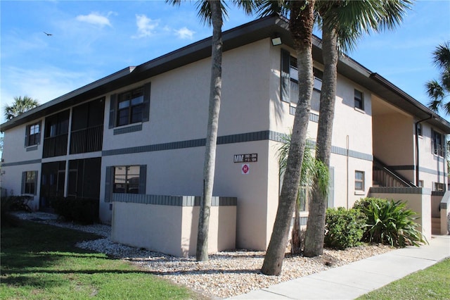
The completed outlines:
{"type": "MultiPolygon", "coordinates": [[[[195,1],[2,0],[0,11],[0,123],[14,96],[44,104],[212,33],[195,1]]],[[[449,16],[450,0],[416,1],[397,30],[365,37],[349,56],[426,104],[425,82],[438,76],[431,53],[450,39],[449,16]]],[[[230,6],[223,29],[255,18],[230,6]]]]}

